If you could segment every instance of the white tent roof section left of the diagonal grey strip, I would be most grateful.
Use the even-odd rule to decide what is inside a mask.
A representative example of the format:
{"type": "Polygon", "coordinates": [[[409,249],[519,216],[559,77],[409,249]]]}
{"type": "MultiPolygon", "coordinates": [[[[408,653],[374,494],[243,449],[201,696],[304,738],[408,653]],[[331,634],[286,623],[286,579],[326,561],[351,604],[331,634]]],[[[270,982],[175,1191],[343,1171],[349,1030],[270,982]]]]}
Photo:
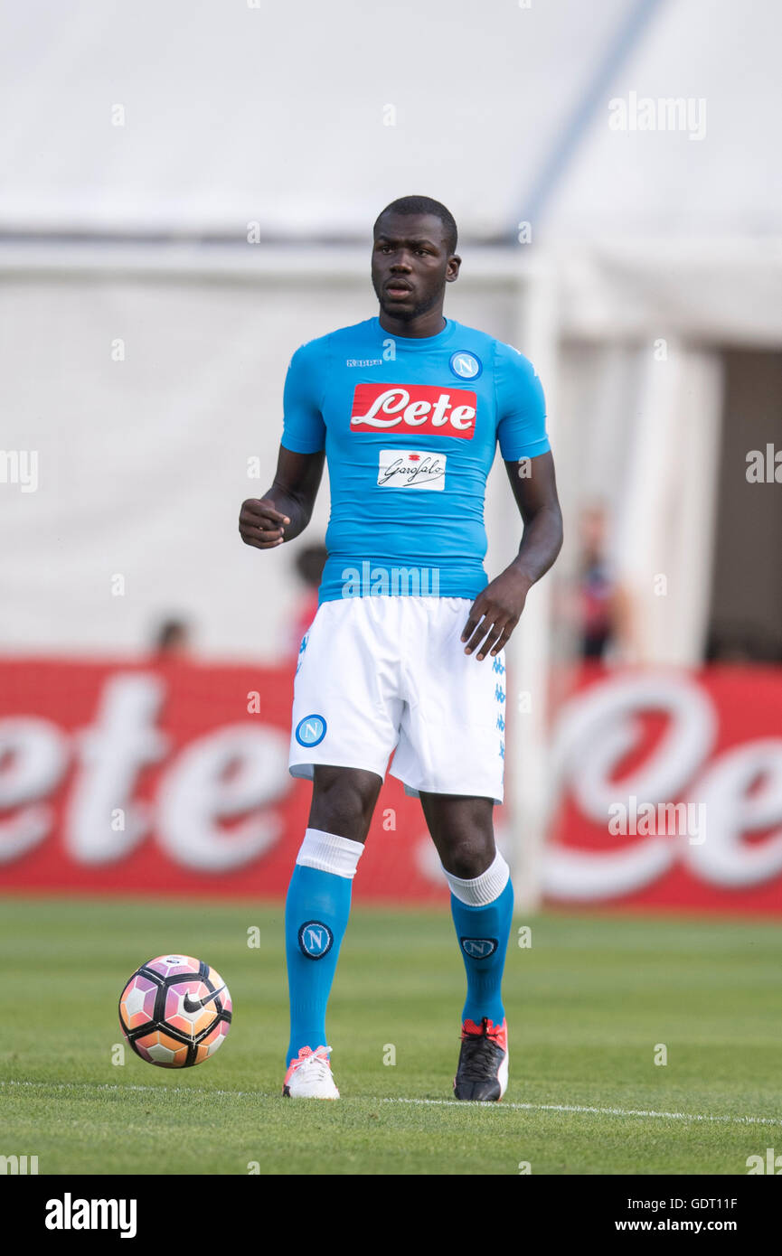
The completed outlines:
{"type": "Polygon", "coordinates": [[[18,0],[0,222],[363,235],[386,201],[425,191],[470,230],[507,229],[519,175],[544,161],[625,11],[18,0]]]}

